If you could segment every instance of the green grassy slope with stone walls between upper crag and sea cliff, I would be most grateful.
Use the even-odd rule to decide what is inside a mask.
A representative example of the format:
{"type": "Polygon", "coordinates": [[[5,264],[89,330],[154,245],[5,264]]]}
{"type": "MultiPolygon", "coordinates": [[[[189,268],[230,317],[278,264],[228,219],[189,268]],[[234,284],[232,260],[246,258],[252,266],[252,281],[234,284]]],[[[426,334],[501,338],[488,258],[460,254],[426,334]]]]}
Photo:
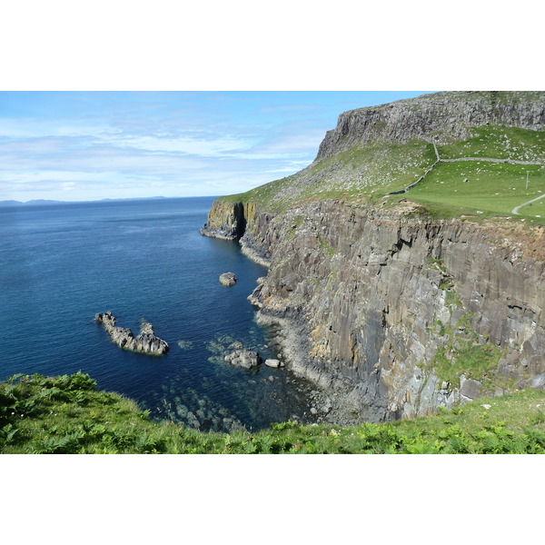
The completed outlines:
{"type": "Polygon", "coordinates": [[[484,157],[545,164],[545,133],[486,125],[471,129],[467,140],[439,144],[438,151],[441,159],[457,162],[438,163],[422,183],[402,196],[386,195],[411,185],[435,163],[437,157],[429,142],[355,145],[312,163],[300,173],[223,197],[223,201],[253,201],[282,213],[293,204],[312,199],[385,201],[393,205],[408,198],[421,203],[435,218],[512,216],[511,221],[545,223],[545,199],[521,208],[519,215],[511,213],[516,206],[545,194],[545,166],[462,161],[484,157]]]}

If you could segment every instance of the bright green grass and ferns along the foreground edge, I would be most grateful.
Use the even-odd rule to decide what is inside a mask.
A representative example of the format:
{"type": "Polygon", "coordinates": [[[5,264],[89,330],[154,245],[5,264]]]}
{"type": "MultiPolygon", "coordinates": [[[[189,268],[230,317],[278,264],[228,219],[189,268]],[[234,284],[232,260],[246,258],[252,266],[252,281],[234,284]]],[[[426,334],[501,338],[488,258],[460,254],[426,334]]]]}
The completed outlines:
{"type": "Polygon", "coordinates": [[[0,383],[0,452],[544,453],[544,409],[545,392],[526,390],[414,420],[203,433],[150,420],[82,372],[18,375],[0,383]]]}

